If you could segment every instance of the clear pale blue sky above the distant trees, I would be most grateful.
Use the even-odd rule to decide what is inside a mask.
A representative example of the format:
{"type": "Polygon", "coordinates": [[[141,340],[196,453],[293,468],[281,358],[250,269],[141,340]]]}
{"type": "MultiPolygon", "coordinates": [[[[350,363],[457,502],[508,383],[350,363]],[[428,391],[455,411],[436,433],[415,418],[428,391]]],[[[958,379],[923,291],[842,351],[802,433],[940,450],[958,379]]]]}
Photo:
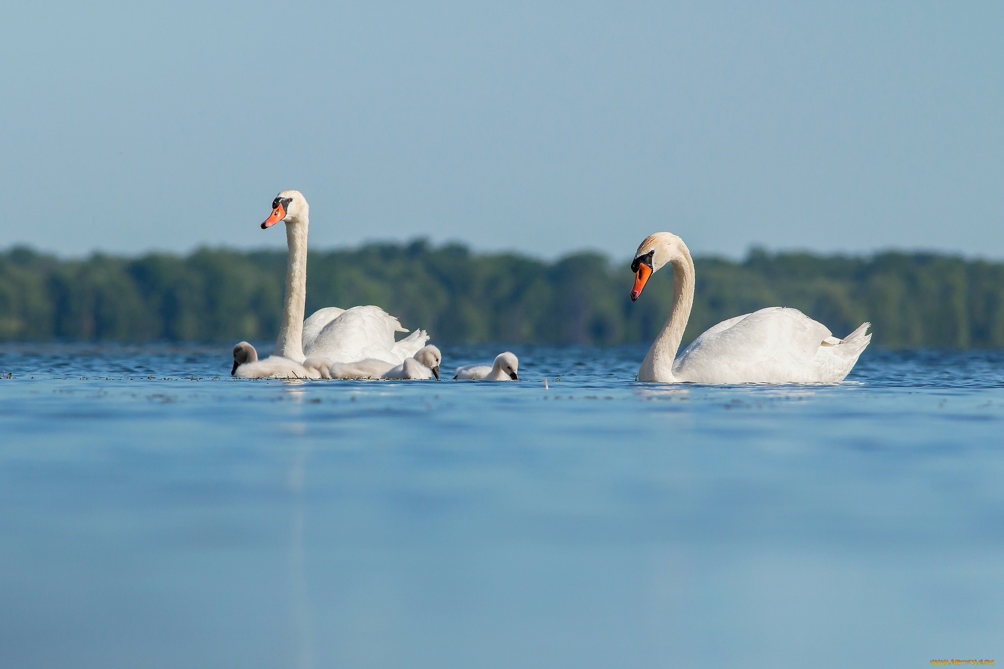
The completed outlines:
{"type": "Polygon", "coordinates": [[[1002,3],[6,5],[0,247],[1004,258],[1002,3]]]}

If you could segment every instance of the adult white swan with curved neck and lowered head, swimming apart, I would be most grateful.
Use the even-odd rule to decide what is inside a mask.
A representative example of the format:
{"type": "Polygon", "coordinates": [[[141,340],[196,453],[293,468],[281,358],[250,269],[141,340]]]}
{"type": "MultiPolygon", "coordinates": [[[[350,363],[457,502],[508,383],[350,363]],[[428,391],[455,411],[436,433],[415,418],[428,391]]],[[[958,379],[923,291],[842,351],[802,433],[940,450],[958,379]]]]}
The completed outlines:
{"type": "Polygon", "coordinates": [[[638,370],[640,381],[816,383],[840,381],[871,341],[870,323],[837,339],[797,309],[768,307],[722,321],[677,356],[694,304],[694,261],[684,241],[656,233],[642,242],[632,271],[634,302],[654,272],[673,266],[673,310],[638,370]]]}

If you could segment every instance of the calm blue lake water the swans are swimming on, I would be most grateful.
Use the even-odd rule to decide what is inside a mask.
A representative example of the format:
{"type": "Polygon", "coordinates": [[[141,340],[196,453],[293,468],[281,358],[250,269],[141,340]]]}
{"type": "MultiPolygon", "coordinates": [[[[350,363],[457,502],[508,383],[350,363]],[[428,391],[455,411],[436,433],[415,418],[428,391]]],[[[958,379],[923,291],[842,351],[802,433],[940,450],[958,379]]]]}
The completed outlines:
{"type": "Polygon", "coordinates": [[[3,666],[1004,661],[1004,352],[785,387],[511,349],[522,382],[283,382],[4,345],[3,666]]]}

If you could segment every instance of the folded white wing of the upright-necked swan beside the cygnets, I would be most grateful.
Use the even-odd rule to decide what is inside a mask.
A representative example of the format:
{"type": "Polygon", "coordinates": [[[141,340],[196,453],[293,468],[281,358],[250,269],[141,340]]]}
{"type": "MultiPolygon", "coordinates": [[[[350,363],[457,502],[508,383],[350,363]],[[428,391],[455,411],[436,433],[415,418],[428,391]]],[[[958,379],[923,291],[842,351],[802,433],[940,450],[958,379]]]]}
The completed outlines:
{"type": "Polygon", "coordinates": [[[397,365],[404,357],[395,350],[396,332],[408,332],[397,318],[380,307],[352,307],[324,328],[304,351],[307,356],[320,356],[332,362],[356,362],[372,358],[397,365]]]}

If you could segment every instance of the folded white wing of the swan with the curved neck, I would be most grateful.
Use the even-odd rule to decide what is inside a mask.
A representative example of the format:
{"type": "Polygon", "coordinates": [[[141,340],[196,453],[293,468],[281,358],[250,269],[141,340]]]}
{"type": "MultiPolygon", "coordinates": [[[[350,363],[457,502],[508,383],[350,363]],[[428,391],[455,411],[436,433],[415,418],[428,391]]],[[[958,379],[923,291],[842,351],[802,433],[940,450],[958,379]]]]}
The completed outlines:
{"type": "Polygon", "coordinates": [[[673,373],[698,383],[828,380],[819,377],[814,358],[831,336],[797,309],[768,307],[709,329],[677,357],[673,373]]]}

